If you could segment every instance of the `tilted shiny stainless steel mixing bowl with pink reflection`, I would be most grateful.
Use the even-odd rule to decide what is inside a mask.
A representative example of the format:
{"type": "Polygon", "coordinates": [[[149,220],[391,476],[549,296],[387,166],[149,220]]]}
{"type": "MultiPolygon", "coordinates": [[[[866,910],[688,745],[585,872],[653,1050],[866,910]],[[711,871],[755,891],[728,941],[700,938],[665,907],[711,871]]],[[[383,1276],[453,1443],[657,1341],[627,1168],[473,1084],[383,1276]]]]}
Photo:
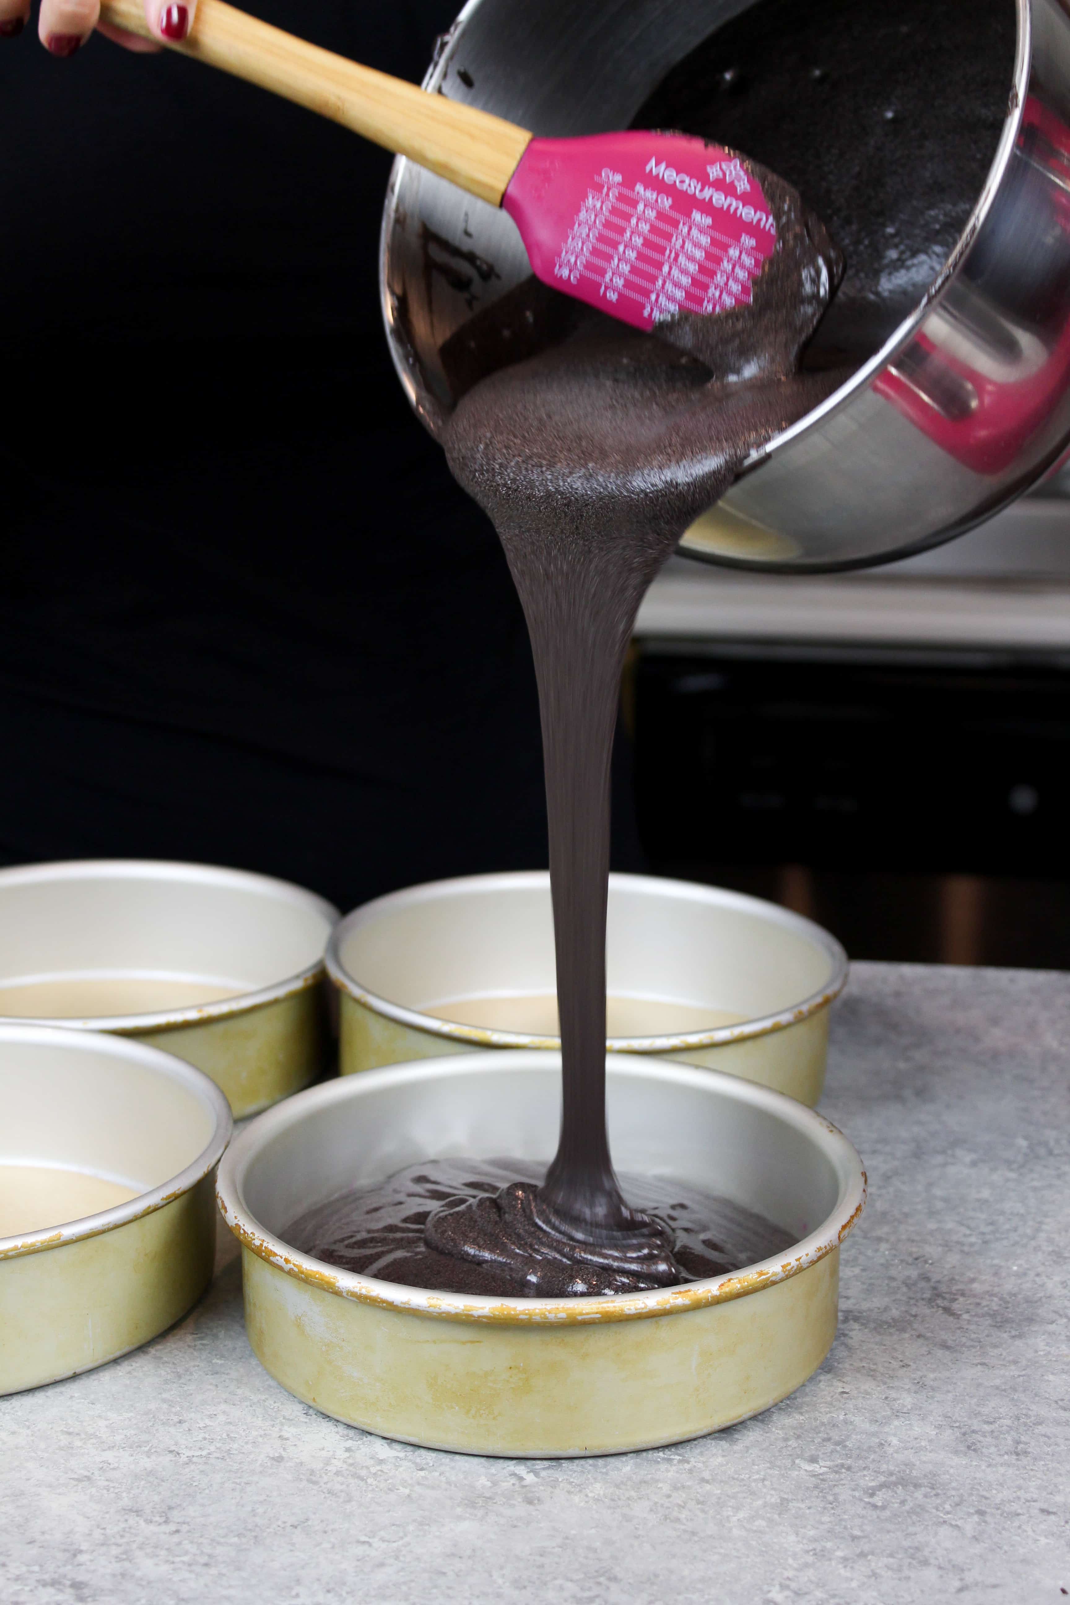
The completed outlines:
{"type": "MultiPolygon", "coordinates": [[[[988,181],[922,303],[823,406],[748,459],[683,538],[691,557],[815,571],[961,534],[1070,440],[1070,16],[1015,0],[1014,88],[988,181]]],[[[537,135],[627,127],[740,0],[470,0],[427,87],[537,135]]],[[[529,273],[504,212],[398,160],[382,233],[395,364],[432,432],[438,358],[473,310],[529,273]]]]}

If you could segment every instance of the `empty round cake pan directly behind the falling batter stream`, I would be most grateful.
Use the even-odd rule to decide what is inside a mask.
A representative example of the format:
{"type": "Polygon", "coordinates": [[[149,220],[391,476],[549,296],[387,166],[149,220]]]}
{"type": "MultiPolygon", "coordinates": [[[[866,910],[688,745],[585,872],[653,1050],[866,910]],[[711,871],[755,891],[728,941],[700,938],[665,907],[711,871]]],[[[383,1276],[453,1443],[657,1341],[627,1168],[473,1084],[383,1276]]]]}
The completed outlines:
{"type": "MultiPolygon", "coordinates": [[[[553,998],[545,870],[433,881],[364,904],[337,926],[327,971],[342,992],[343,1075],[472,1048],[560,1048],[553,1022],[552,1034],[486,1026],[513,1000],[545,1013],[553,998]],[[465,1005],[475,1022],[464,1022],[465,1005]]],[[[629,1032],[608,1038],[610,1053],[703,1064],[815,1104],[829,1006],[845,981],[839,942],[786,908],[691,881],[610,876],[608,1029],[622,1014],[629,1032]],[[679,1029],[701,1011],[730,1022],[679,1029]]]]}

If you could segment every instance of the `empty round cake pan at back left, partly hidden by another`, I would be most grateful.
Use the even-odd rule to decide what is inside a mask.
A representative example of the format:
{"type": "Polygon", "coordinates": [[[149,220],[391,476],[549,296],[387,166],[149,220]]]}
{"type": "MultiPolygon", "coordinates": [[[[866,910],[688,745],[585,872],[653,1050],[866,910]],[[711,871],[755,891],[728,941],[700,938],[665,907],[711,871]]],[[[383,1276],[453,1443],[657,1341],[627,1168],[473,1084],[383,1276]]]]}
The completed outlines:
{"type": "Polygon", "coordinates": [[[337,918],[289,881],[204,863],[0,870],[0,1019],[151,1042],[255,1114],[324,1067],[337,918]]]}

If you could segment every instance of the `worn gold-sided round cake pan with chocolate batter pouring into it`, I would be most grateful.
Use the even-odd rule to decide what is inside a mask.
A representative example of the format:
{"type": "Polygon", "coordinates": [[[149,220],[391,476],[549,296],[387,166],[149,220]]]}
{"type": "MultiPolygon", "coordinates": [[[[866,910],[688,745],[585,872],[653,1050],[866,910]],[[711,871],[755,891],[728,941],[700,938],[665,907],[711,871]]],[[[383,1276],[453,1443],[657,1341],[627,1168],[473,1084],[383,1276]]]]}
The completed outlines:
{"type": "Polygon", "coordinates": [[[853,1148],[791,1098],[650,1058],[608,1061],[606,1107],[622,1173],[725,1194],[794,1247],[732,1276],[600,1298],[480,1298],[340,1271],[287,1242],[311,1205],[420,1159],[545,1160],[557,1143],[558,1054],[369,1071],[260,1115],[220,1167],[261,1364],[327,1416],[470,1454],[677,1443],[794,1392],[836,1335],[839,1245],[865,1202],[853,1148]]]}

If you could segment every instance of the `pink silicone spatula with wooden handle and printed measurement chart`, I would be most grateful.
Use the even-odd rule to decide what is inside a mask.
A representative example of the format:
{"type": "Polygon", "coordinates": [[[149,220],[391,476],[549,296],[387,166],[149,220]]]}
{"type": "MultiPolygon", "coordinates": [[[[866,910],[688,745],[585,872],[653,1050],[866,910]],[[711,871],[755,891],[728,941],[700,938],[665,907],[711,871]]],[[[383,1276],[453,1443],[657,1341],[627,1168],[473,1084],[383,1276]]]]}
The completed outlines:
{"type": "MultiPolygon", "coordinates": [[[[148,37],[141,0],[101,16],[148,37]]],[[[502,117],[319,50],[225,0],[199,0],[172,45],[411,157],[517,223],[555,289],[651,329],[751,300],[776,247],[757,180],[732,152],[679,133],[536,140],[502,117]]]]}

